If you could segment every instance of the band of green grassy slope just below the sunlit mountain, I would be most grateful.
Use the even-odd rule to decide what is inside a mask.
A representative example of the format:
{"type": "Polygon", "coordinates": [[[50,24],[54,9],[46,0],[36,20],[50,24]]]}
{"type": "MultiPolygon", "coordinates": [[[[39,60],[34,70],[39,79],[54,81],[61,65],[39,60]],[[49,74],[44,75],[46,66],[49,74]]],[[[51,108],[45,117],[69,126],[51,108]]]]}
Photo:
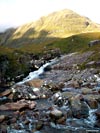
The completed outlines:
{"type": "MultiPolygon", "coordinates": [[[[41,38],[42,39],[42,38],[41,38]]],[[[67,38],[46,38],[44,42],[40,42],[37,39],[37,44],[25,44],[20,48],[8,48],[0,46],[0,54],[9,54],[18,49],[22,52],[27,53],[43,53],[45,50],[60,48],[62,53],[71,53],[71,52],[85,52],[85,51],[97,51],[99,53],[100,46],[95,45],[93,47],[88,47],[88,43],[91,40],[100,39],[100,32],[90,32],[82,33],[78,35],[73,35],[67,38]]]]}

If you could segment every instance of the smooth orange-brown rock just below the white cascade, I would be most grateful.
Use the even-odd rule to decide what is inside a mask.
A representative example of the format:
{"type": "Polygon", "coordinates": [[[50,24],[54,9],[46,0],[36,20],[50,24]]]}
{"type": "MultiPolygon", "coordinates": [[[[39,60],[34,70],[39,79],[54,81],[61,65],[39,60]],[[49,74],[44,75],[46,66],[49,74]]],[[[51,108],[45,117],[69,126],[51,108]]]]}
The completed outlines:
{"type": "Polygon", "coordinates": [[[27,84],[31,87],[34,87],[34,88],[40,88],[43,85],[43,82],[44,81],[41,79],[33,79],[33,80],[28,81],[25,84],[27,84]]]}

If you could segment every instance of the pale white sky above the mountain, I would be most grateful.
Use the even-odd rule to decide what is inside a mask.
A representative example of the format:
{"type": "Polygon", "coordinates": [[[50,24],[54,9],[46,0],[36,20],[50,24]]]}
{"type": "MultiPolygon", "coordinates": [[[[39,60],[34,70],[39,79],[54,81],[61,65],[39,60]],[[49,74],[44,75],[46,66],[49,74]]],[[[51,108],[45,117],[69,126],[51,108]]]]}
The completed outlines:
{"type": "Polygon", "coordinates": [[[100,0],[0,0],[0,30],[71,9],[100,24],[100,0]]]}

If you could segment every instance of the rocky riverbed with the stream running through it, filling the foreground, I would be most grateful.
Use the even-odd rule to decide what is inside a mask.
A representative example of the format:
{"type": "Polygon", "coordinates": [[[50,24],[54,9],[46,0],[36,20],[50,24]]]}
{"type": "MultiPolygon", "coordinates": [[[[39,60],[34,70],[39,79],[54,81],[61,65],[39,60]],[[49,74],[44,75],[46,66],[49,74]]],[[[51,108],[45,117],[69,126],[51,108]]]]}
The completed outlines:
{"type": "Polygon", "coordinates": [[[63,55],[2,91],[0,133],[100,133],[99,68],[80,69],[91,54],[63,55]]]}

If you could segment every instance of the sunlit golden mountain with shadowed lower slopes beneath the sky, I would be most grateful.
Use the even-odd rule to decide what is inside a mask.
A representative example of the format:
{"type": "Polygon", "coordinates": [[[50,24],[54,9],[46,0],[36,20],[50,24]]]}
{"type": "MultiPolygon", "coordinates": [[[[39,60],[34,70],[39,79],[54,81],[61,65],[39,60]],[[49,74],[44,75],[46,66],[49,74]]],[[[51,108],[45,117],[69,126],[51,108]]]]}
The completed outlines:
{"type": "Polygon", "coordinates": [[[100,31],[100,25],[65,9],[17,28],[9,37],[5,37],[6,40],[3,38],[2,41],[1,39],[0,44],[13,48],[32,47],[35,44],[45,47],[61,38],[98,31],[100,31]]]}

